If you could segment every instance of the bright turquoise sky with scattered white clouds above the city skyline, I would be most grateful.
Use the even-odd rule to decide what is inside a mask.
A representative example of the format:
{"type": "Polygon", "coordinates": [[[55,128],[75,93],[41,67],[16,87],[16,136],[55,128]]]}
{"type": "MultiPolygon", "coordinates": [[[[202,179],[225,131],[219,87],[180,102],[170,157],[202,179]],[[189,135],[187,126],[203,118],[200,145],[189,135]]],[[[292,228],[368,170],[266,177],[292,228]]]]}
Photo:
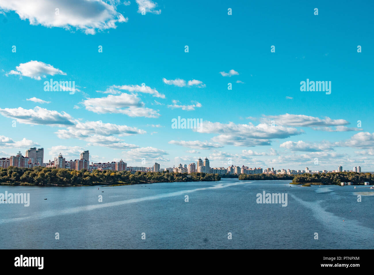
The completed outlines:
{"type": "Polygon", "coordinates": [[[374,171],[373,7],[0,0],[0,157],[374,171]]]}

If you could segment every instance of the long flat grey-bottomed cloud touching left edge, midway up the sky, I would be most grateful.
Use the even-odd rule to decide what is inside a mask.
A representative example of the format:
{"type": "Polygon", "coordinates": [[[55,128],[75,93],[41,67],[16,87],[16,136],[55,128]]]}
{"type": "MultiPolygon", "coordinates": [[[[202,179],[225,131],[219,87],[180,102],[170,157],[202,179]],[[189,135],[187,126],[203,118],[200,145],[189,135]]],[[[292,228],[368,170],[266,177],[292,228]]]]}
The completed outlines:
{"type": "Polygon", "coordinates": [[[42,107],[36,106],[34,109],[18,108],[0,108],[0,114],[5,117],[16,119],[19,123],[25,124],[40,124],[49,126],[70,126],[74,125],[73,117],[62,111],[51,111],[42,107]]]}

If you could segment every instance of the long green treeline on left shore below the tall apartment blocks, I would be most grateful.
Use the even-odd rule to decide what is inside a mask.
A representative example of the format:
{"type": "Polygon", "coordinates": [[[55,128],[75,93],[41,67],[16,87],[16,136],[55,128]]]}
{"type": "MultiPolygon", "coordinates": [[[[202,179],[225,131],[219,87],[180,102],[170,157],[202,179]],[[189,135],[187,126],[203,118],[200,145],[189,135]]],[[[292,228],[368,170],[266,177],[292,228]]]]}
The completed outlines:
{"type": "Polygon", "coordinates": [[[1,185],[55,185],[55,186],[81,186],[81,185],[129,185],[139,183],[177,182],[177,181],[218,181],[218,174],[206,173],[168,173],[168,172],[129,172],[113,170],[86,169],[71,170],[65,168],[19,168],[10,166],[0,168],[1,185]]]}

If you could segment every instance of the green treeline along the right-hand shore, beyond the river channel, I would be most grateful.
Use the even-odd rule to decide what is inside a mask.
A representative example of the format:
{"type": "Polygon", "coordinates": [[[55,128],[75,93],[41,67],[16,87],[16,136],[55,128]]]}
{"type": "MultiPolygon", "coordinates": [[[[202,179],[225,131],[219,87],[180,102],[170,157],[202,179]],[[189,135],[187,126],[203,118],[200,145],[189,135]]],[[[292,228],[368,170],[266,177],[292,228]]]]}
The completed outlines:
{"type": "MultiPolygon", "coordinates": [[[[225,175],[223,175],[225,177],[225,175]]],[[[292,183],[311,183],[311,184],[340,184],[341,182],[352,182],[353,184],[364,184],[365,181],[374,184],[374,175],[371,173],[358,172],[328,172],[301,175],[286,174],[240,174],[239,180],[292,180],[292,183]]]]}

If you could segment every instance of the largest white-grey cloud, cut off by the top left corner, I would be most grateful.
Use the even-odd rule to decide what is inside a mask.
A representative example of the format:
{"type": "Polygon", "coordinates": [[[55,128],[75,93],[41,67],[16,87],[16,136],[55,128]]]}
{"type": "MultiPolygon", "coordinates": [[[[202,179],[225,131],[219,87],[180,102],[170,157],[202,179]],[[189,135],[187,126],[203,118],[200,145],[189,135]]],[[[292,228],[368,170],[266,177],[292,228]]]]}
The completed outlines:
{"type": "Polygon", "coordinates": [[[116,1],[0,0],[0,12],[14,11],[22,20],[28,19],[30,25],[59,27],[69,31],[82,30],[86,34],[115,29],[117,23],[127,22],[128,18],[116,9],[116,1]]]}

